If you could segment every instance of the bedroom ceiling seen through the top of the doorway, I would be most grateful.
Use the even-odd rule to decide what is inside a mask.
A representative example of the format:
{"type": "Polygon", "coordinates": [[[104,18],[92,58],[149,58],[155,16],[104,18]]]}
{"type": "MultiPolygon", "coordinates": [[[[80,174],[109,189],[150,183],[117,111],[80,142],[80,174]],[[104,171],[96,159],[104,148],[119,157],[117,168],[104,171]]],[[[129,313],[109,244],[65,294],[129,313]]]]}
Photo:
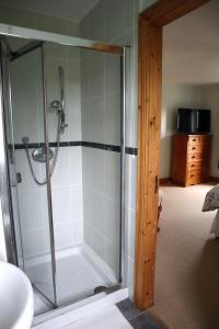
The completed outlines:
{"type": "Polygon", "coordinates": [[[218,0],[211,0],[163,29],[163,81],[219,82],[218,0]]]}

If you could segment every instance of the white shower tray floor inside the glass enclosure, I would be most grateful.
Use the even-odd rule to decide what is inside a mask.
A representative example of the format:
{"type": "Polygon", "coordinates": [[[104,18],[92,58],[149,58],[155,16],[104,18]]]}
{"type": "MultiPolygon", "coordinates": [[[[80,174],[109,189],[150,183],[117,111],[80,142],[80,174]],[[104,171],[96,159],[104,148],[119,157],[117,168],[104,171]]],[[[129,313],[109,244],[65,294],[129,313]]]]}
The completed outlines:
{"type": "MultiPolygon", "coordinates": [[[[60,306],[92,296],[97,286],[110,287],[113,285],[107,275],[100,270],[99,264],[83,253],[60,258],[57,260],[56,266],[57,296],[60,306]]],[[[53,296],[53,286],[50,285],[49,291],[48,275],[45,273],[48,273],[48,263],[46,262],[28,268],[32,282],[35,282],[35,285],[41,287],[46,296],[53,296]]],[[[50,282],[53,282],[51,272],[50,282]]],[[[53,309],[50,303],[35,290],[35,316],[50,309],[53,309]]]]}

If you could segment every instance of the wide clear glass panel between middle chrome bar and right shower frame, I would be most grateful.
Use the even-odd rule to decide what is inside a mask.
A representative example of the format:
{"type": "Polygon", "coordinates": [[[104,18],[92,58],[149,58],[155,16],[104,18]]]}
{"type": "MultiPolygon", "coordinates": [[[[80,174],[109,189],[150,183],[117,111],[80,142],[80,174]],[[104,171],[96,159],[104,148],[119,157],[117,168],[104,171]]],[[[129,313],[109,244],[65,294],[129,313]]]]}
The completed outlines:
{"type": "Polygon", "coordinates": [[[119,281],[120,66],[112,54],[45,47],[54,152],[61,140],[51,195],[57,298],[64,305],[119,281]]]}

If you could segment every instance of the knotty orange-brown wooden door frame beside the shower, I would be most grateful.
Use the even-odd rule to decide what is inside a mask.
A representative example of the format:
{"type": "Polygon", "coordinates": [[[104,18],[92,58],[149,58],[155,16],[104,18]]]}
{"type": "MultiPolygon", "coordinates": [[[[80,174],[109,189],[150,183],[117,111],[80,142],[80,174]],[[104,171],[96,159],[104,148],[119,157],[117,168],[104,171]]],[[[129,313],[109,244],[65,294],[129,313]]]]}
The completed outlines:
{"type": "MultiPolygon", "coordinates": [[[[159,0],[139,15],[135,305],[153,305],[160,167],[162,27],[210,0],[159,0]]],[[[164,283],[165,284],[165,283],[164,283]]]]}

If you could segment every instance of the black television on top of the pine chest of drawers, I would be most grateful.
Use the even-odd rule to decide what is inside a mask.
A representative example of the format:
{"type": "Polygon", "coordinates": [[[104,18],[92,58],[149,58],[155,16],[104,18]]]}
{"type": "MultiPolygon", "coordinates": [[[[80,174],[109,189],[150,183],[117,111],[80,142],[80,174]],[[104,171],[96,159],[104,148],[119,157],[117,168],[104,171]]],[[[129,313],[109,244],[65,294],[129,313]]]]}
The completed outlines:
{"type": "Polygon", "coordinates": [[[184,134],[209,134],[210,110],[178,109],[177,132],[184,134]]]}

